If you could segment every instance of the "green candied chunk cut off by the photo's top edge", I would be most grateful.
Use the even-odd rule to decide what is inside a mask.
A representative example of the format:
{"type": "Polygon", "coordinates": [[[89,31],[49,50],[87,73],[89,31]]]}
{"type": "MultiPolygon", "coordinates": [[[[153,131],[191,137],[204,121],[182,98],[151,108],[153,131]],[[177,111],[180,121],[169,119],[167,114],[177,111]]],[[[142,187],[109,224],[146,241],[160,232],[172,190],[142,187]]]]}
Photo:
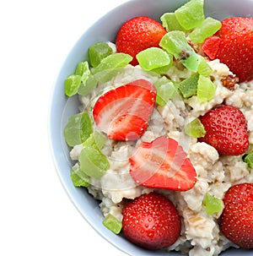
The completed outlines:
{"type": "Polygon", "coordinates": [[[204,15],[204,1],[191,0],[177,10],[175,10],[175,17],[180,25],[186,30],[191,30],[196,26],[202,24],[205,19],[204,15]]]}

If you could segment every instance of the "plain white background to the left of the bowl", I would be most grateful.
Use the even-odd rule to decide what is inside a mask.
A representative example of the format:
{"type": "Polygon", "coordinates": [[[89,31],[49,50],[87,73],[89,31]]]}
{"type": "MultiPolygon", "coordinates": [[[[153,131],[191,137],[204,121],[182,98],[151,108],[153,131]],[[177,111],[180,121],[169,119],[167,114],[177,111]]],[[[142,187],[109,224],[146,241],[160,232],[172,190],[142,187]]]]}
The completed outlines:
{"type": "Polygon", "coordinates": [[[0,255],[125,255],[68,199],[47,133],[51,89],[64,58],[94,21],[123,2],[0,3],[0,255]]]}

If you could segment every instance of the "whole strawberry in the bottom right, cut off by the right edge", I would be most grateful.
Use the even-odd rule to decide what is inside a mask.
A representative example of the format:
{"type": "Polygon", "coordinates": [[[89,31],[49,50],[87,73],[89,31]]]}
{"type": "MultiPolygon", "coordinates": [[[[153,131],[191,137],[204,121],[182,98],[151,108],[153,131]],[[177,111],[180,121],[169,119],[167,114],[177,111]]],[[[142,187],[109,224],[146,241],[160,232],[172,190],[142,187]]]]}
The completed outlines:
{"type": "Polygon", "coordinates": [[[241,248],[253,248],[253,184],[234,185],[225,193],[220,228],[241,248]]]}

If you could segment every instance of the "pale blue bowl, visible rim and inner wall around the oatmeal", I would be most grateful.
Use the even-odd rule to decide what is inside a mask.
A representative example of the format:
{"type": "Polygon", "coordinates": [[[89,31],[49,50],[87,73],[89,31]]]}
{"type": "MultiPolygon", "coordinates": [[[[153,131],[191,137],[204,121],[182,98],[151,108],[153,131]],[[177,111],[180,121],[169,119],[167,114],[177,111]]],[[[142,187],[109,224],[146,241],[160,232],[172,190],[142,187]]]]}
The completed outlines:
{"type": "MultiPolygon", "coordinates": [[[[85,189],[74,188],[70,178],[70,168],[73,165],[68,156],[68,148],[63,136],[63,128],[68,117],[78,112],[78,97],[67,98],[64,94],[64,80],[67,75],[73,74],[76,65],[87,59],[88,48],[97,41],[115,41],[116,31],[127,19],[139,15],[147,15],[159,19],[161,14],[174,11],[186,0],[132,0],[121,4],[99,19],[89,30],[85,31],[69,54],[60,70],[57,82],[51,95],[49,136],[51,151],[57,169],[57,174],[65,188],[67,195],[72,200],[83,218],[97,231],[100,236],[116,248],[129,255],[168,255],[168,252],[149,252],[138,248],[122,236],[116,236],[102,225],[103,215],[98,202],[93,199],[85,189]]],[[[205,0],[205,14],[216,19],[231,16],[252,16],[253,0],[205,0]],[[229,4],[228,4],[229,2],[229,4]]],[[[170,252],[170,256],[179,256],[180,253],[170,252]]],[[[222,253],[226,255],[252,255],[252,250],[229,249],[222,253]]]]}

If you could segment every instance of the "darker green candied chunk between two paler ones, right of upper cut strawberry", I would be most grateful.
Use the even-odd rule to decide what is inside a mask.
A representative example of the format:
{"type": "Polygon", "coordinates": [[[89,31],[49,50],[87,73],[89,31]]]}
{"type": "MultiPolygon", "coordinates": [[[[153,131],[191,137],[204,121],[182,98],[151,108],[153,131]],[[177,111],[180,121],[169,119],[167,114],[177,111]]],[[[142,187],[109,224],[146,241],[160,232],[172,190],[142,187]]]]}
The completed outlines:
{"type": "Polygon", "coordinates": [[[198,79],[199,74],[193,74],[190,78],[180,82],[178,89],[185,99],[196,95],[198,79]]]}

